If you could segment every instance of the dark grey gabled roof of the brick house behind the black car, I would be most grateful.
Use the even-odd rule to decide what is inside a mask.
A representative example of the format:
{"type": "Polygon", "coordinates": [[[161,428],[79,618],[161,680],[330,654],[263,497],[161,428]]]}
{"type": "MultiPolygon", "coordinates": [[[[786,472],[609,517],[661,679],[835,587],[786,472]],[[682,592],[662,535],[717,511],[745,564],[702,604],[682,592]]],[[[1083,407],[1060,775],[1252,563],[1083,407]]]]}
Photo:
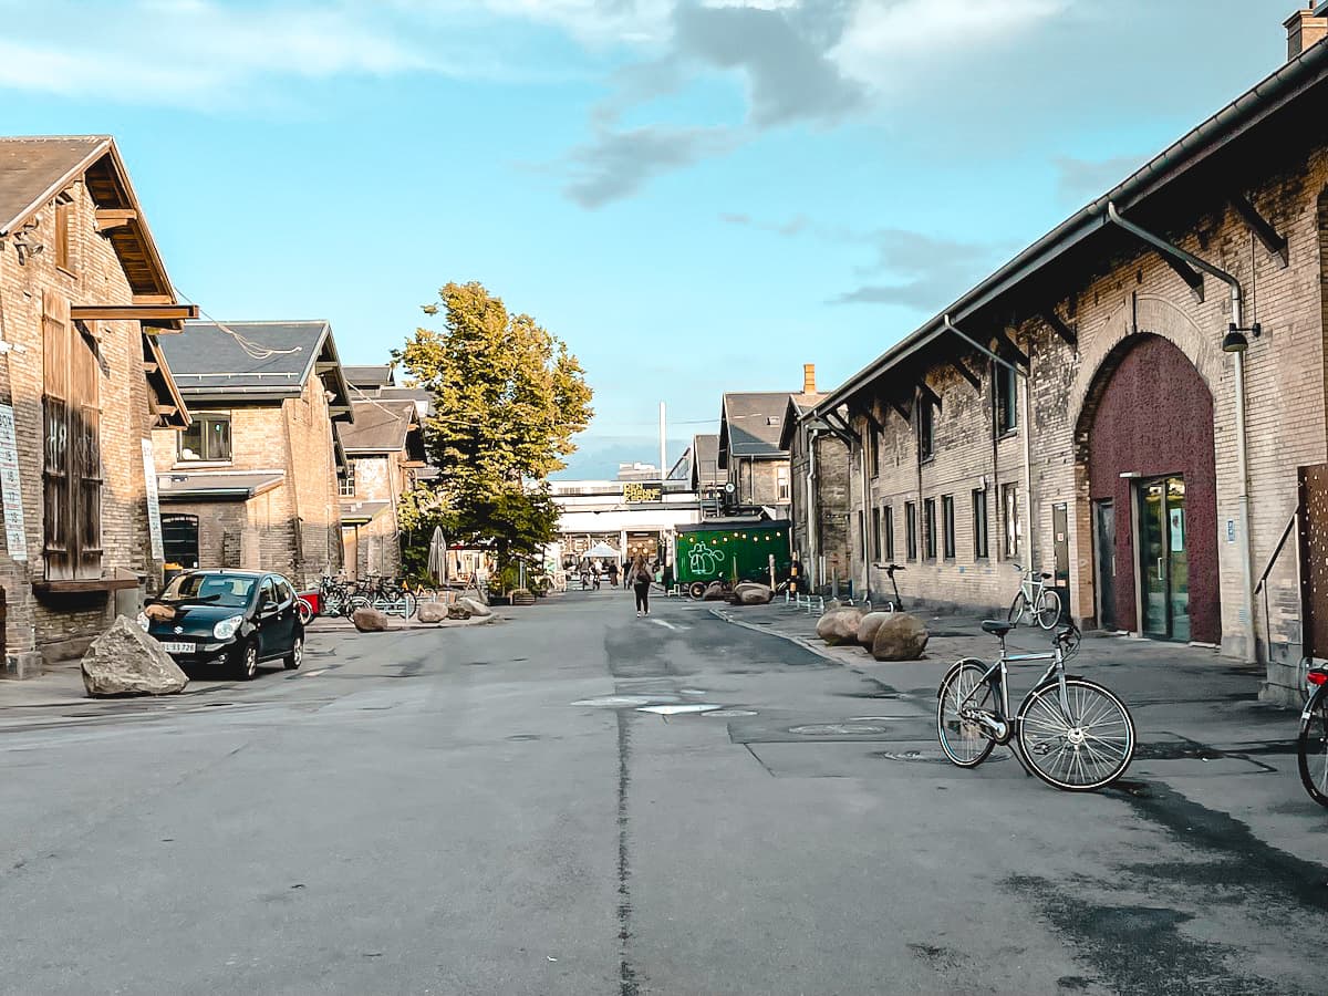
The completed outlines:
{"type": "Polygon", "coordinates": [[[299,397],[311,376],[332,392],[336,421],[352,421],[351,388],[327,321],[187,321],[162,349],[186,400],[255,402],[299,397]]]}

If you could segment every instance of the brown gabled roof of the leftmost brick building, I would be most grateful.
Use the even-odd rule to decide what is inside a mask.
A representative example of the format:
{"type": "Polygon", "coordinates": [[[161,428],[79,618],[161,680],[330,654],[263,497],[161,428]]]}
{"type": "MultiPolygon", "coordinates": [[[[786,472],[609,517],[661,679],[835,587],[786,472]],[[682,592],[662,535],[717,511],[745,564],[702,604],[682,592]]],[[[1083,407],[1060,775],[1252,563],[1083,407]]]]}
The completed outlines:
{"type": "Polygon", "coordinates": [[[32,220],[70,183],[82,179],[100,210],[122,212],[105,228],[135,296],[175,301],[157,243],[110,135],[0,138],[0,239],[32,220]]]}

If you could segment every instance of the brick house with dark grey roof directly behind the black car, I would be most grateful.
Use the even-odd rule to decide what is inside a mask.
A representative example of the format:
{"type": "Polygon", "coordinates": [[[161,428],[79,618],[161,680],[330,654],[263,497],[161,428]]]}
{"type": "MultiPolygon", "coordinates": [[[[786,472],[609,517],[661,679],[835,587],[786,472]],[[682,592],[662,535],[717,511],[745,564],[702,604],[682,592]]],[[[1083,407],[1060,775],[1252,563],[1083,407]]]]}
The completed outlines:
{"type": "Polygon", "coordinates": [[[333,422],[353,418],[325,321],[190,321],[165,347],[194,416],[154,433],[166,559],[280,571],[341,568],[333,422]]]}

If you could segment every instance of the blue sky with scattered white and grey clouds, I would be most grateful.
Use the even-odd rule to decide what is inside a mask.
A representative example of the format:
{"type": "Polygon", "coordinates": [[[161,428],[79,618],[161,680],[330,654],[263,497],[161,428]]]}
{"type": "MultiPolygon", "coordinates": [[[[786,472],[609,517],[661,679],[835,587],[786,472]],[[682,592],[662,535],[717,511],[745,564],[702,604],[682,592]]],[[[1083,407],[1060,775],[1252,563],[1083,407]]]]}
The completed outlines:
{"type": "MultiPolygon", "coordinates": [[[[566,340],[566,475],[829,388],[1272,72],[1297,0],[0,0],[0,131],[116,135],[179,290],[381,363],[566,340]]],[[[671,446],[676,458],[679,444],[671,446]]]]}

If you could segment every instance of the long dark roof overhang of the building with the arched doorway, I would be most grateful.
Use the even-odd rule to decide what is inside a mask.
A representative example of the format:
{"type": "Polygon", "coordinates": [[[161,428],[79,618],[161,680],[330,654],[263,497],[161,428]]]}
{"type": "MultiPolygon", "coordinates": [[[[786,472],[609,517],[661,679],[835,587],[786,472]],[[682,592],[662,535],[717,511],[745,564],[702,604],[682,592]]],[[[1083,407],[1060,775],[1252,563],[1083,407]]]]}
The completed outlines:
{"type": "MultiPolygon", "coordinates": [[[[1287,109],[1311,90],[1328,89],[1328,44],[1316,44],[1288,61],[1284,66],[1255,85],[1198,127],[1189,131],[1166,150],[1135,170],[1123,182],[1097,198],[1056,228],[1025,248],[1005,266],[969,290],[948,308],[915,329],[903,340],[884,351],[830,392],[813,409],[823,414],[851,402],[865,388],[880,376],[898,371],[908,361],[920,359],[926,348],[948,335],[946,317],[960,328],[968,320],[980,319],[997,303],[1007,303],[1011,292],[1035,278],[1048,275],[1053,264],[1065,263],[1066,256],[1089,239],[1098,236],[1109,226],[1108,203],[1123,212],[1155,205],[1163,191],[1170,193],[1175,181],[1193,175],[1199,167],[1220,174],[1232,163],[1220,155],[1234,141],[1264,125],[1275,114],[1287,109]]],[[[1308,127],[1312,131],[1312,127],[1308,127]]],[[[1254,157],[1258,159],[1258,157],[1254,157]]],[[[1239,190],[1239,181],[1228,179],[1227,187],[1239,190]]],[[[980,324],[980,323],[979,323],[980,324]]],[[[968,351],[957,337],[951,341],[968,351]]]]}

